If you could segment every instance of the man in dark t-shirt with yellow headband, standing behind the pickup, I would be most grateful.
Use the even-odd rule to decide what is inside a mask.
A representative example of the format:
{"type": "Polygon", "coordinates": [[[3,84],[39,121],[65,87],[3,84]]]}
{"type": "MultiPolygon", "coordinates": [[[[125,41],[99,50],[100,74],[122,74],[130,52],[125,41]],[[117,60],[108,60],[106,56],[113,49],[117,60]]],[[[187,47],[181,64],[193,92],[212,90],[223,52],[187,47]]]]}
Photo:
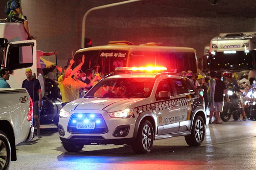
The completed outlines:
{"type": "Polygon", "coordinates": [[[33,78],[32,70],[30,68],[26,69],[27,79],[22,82],[22,88],[28,90],[30,98],[33,100],[33,113],[35,127],[37,128],[38,138],[42,138],[40,133],[40,121],[39,121],[39,108],[41,108],[42,103],[42,92],[41,86],[38,79],[33,78]]]}

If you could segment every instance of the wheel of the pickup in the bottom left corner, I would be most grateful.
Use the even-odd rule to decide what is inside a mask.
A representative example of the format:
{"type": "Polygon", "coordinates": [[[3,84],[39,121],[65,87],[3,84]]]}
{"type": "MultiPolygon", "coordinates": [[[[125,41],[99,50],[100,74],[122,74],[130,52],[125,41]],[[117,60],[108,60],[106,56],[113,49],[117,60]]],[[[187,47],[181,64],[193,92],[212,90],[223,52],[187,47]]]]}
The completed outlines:
{"type": "Polygon", "coordinates": [[[11,145],[8,137],[0,131],[0,169],[8,170],[11,161],[11,145]]]}

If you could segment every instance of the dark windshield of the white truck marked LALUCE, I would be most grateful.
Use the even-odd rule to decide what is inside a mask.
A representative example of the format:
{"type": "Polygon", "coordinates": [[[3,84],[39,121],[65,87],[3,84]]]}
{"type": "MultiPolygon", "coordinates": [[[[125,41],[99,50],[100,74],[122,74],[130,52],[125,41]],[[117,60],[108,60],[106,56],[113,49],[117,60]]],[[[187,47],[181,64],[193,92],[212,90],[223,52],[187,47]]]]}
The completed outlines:
{"type": "Polygon", "coordinates": [[[209,55],[207,64],[210,70],[251,70],[255,64],[255,51],[216,52],[209,55]]]}

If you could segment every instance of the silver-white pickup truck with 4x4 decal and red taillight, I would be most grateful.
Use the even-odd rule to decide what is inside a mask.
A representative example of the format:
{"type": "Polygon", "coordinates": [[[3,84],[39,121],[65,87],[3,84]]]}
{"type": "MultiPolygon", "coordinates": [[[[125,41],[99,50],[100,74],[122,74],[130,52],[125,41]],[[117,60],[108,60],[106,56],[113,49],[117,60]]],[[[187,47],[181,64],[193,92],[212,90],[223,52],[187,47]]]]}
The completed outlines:
{"type": "Polygon", "coordinates": [[[33,138],[33,102],[26,89],[0,88],[0,169],[17,160],[16,145],[33,138]]]}

